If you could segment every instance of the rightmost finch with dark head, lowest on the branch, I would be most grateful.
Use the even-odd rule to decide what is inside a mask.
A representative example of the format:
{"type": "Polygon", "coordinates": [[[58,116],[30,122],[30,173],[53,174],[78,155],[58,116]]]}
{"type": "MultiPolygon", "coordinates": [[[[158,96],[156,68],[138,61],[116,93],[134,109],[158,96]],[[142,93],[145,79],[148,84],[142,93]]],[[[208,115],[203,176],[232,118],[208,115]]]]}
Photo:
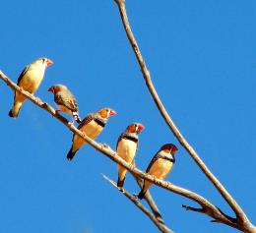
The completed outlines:
{"type": "MultiPolygon", "coordinates": [[[[148,166],[146,173],[152,175],[158,179],[164,179],[172,169],[175,163],[175,152],[178,148],[172,144],[165,144],[160,147],[160,150],[156,153],[148,166]]],[[[144,185],[137,196],[138,199],[142,200],[153,183],[148,180],[144,180],[144,185]]]]}

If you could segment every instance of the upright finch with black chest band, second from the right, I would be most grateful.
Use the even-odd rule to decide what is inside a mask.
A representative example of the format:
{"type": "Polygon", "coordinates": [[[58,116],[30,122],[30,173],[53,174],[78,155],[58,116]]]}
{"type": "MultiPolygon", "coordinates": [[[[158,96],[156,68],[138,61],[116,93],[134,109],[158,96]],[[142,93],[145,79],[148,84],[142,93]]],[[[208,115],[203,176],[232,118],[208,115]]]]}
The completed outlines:
{"type": "MultiPolygon", "coordinates": [[[[139,134],[145,129],[141,123],[132,123],[120,135],[116,144],[117,154],[124,159],[127,163],[132,164],[136,151],[139,146],[139,134]]],[[[117,164],[118,180],[117,187],[120,191],[123,190],[125,181],[126,168],[117,164]]]]}

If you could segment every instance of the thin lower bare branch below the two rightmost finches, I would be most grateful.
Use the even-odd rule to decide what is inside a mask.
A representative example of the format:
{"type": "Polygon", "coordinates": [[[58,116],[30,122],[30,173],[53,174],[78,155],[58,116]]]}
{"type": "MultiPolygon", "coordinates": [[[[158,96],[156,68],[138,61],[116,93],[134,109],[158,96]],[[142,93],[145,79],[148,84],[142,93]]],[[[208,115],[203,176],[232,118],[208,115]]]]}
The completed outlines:
{"type": "MultiPolygon", "coordinates": [[[[101,174],[105,180],[107,180],[110,184],[112,184],[118,191],[116,183],[108,178],[107,176],[101,174]]],[[[131,195],[128,191],[125,189],[120,192],[120,194],[123,194],[126,198],[128,198],[133,204],[135,204],[138,208],[140,208],[146,215],[148,215],[151,220],[154,222],[154,224],[160,229],[163,233],[173,233],[163,222],[160,222],[158,218],[149,210],[147,209],[143,204],[141,204],[133,195],[131,195]]]]}

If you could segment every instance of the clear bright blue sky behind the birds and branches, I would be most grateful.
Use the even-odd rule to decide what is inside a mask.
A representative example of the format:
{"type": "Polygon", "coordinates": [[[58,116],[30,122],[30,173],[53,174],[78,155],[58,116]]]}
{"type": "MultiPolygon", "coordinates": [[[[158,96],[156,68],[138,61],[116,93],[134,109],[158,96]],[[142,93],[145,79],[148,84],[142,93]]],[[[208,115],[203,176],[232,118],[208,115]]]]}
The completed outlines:
{"type": "MultiPolygon", "coordinates": [[[[256,223],[256,2],[126,0],[127,11],[153,81],[181,132],[256,223]]],[[[0,69],[17,81],[37,57],[54,61],[36,94],[53,104],[47,88],[68,86],[81,116],[103,106],[118,112],[97,139],[115,147],[131,122],[141,122],[136,162],[146,169],[164,143],[179,147],[167,180],[229,208],[160,118],[121,26],[113,0],[3,1],[0,69]]],[[[116,165],[91,146],[74,161],[72,134],[26,102],[8,117],[13,93],[0,82],[0,232],[158,232],[153,223],[104,181],[116,165]]],[[[68,116],[67,116],[68,117],[68,116]]],[[[70,118],[69,118],[70,119],[70,118]]],[[[125,187],[139,191],[128,175],[125,187]]],[[[151,189],[175,232],[231,233],[184,198],[151,189]]],[[[195,205],[196,206],[196,205],[195,205]]]]}

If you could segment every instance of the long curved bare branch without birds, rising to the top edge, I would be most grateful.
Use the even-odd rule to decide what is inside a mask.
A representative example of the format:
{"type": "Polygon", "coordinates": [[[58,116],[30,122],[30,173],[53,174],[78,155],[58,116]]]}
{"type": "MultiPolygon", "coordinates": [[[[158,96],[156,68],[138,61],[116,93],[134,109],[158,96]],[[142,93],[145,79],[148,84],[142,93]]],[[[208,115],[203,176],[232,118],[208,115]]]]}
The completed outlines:
{"type": "Polygon", "coordinates": [[[188,142],[185,140],[183,135],[180,133],[180,131],[175,126],[174,122],[170,118],[169,114],[167,113],[166,109],[164,108],[160,96],[154,87],[151,75],[149,70],[147,69],[145,60],[143,59],[143,56],[140,52],[140,48],[137,44],[137,41],[134,37],[134,34],[131,30],[128,17],[126,14],[125,9],[125,2],[124,1],[115,1],[118,5],[119,13],[122,19],[123,27],[125,29],[125,32],[127,34],[127,37],[130,41],[130,44],[132,46],[132,49],[135,53],[135,56],[137,58],[137,61],[141,67],[141,71],[144,77],[144,80],[146,82],[147,87],[149,88],[149,91],[160,111],[160,114],[162,118],[164,119],[165,123],[169,127],[170,131],[173,133],[173,135],[176,137],[178,142],[187,150],[187,152],[190,154],[190,156],[194,159],[194,161],[197,163],[197,165],[200,167],[200,169],[204,172],[204,174],[208,177],[208,179],[214,184],[214,186],[217,188],[217,190],[220,192],[220,194],[223,196],[224,200],[227,204],[233,209],[233,211],[236,214],[237,220],[241,225],[247,226],[250,229],[254,229],[256,231],[256,228],[252,225],[252,223],[247,218],[246,214],[242,210],[242,208],[234,201],[234,199],[228,194],[228,192],[225,190],[222,183],[216,178],[216,176],[210,171],[210,169],[205,165],[205,163],[202,161],[202,159],[199,157],[197,152],[194,150],[192,146],[188,144],[188,142]]]}

